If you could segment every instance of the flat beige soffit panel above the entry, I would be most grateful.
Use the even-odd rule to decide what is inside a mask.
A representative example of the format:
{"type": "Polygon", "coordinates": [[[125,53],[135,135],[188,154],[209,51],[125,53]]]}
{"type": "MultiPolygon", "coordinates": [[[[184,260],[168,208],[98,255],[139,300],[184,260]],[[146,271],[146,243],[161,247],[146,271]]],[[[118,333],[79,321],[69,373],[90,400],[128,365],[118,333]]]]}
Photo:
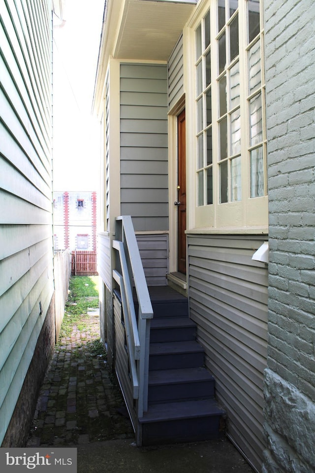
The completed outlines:
{"type": "Polygon", "coordinates": [[[195,5],[125,0],[114,58],[167,61],[195,5]]]}

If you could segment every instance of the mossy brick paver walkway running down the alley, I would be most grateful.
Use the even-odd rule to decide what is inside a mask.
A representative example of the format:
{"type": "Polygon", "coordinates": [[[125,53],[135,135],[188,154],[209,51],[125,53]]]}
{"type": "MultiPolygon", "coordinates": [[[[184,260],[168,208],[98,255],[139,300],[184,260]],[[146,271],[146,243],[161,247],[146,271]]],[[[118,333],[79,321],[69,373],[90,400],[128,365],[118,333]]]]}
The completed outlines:
{"type": "MultiPolygon", "coordinates": [[[[66,317],[66,315],[65,315],[66,317]]],[[[95,352],[98,312],[56,346],[41,387],[27,446],[66,446],[133,438],[118,382],[95,352]]]]}

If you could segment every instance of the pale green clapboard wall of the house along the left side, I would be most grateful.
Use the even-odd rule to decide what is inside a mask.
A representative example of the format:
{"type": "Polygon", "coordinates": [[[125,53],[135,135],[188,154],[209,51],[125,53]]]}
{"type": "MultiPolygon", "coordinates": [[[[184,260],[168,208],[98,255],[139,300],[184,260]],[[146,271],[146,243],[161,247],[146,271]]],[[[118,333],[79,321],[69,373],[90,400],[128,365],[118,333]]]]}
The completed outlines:
{"type": "Polygon", "coordinates": [[[0,18],[0,444],[19,446],[55,342],[51,4],[2,1],[0,18]]]}

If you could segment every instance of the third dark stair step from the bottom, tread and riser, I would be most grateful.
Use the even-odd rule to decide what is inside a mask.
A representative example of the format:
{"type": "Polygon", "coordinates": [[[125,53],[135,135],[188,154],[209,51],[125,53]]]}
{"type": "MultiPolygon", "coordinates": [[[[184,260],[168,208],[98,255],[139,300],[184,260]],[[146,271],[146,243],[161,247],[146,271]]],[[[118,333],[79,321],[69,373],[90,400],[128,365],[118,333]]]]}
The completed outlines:
{"type": "Polygon", "coordinates": [[[149,370],[203,366],[203,348],[194,340],[150,343],[149,370]]]}

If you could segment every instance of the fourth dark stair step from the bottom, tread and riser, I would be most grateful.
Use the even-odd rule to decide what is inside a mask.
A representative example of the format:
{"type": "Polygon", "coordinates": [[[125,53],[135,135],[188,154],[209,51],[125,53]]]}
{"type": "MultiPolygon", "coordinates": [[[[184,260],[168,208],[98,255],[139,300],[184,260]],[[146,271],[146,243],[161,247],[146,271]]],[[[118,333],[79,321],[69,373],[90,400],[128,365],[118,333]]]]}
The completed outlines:
{"type": "Polygon", "coordinates": [[[151,342],[195,340],[196,325],[188,317],[160,317],[151,321],[151,342]]]}

